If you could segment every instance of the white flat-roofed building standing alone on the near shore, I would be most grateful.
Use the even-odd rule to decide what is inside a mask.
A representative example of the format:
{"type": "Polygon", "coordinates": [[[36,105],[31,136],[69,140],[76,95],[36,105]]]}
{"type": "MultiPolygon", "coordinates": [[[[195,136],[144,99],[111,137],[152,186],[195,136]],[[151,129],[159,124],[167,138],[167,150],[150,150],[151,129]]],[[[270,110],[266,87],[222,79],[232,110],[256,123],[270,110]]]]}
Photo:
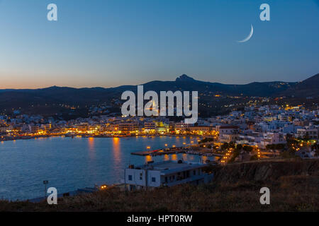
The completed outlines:
{"type": "Polygon", "coordinates": [[[206,166],[206,164],[181,160],[149,162],[138,167],[130,165],[124,172],[125,188],[134,191],[135,189],[152,189],[184,183],[207,183],[211,181],[213,174],[202,171],[206,166]]]}

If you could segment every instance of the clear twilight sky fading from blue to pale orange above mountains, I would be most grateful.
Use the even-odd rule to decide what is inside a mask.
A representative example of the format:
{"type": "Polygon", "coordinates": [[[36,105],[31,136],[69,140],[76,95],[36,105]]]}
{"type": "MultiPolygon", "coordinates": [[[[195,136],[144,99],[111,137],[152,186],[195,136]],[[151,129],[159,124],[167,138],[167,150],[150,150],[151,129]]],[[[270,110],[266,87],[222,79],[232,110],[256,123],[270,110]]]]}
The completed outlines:
{"type": "Polygon", "coordinates": [[[319,73],[319,0],[0,0],[0,88],[113,87],[182,73],[237,84],[319,73]],[[259,20],[262,3],[270,21],[259,20]],[[251,40],[236,42],[250,24],[251,40]]]}

